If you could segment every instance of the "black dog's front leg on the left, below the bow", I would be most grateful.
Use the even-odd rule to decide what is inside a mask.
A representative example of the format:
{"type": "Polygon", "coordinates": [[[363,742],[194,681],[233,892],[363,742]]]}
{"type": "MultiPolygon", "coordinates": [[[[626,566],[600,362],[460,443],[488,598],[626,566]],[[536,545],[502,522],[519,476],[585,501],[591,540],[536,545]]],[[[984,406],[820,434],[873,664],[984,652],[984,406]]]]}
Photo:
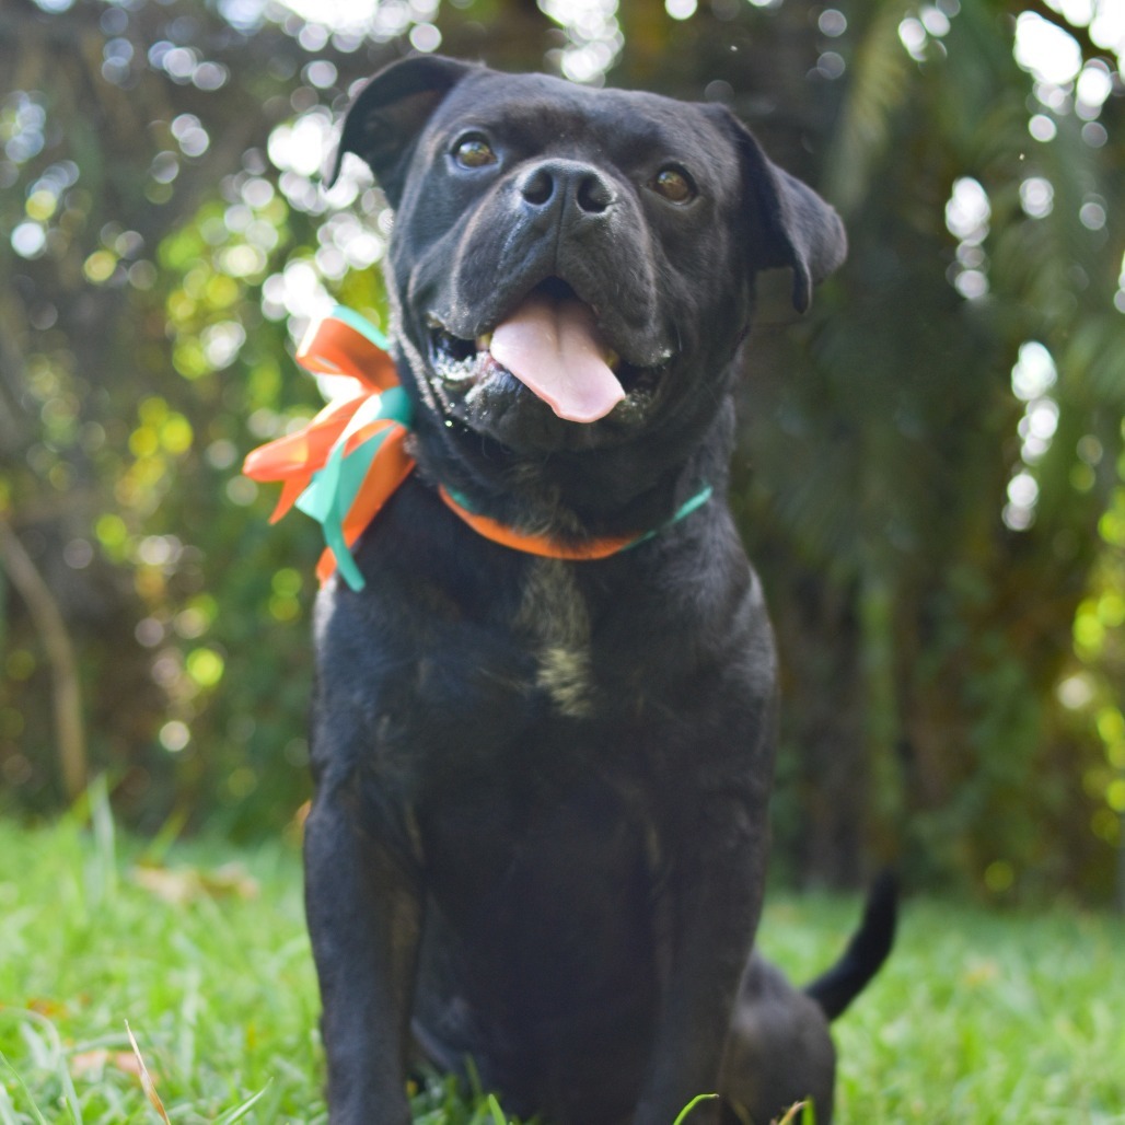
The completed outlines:
{"type": "Polygon", "coordinates": [[[330,1120],[405,1125],[421,896],[403,863],[360,821],[353,795],[323,783],[305,828],[305,886],[330,1120]]]}

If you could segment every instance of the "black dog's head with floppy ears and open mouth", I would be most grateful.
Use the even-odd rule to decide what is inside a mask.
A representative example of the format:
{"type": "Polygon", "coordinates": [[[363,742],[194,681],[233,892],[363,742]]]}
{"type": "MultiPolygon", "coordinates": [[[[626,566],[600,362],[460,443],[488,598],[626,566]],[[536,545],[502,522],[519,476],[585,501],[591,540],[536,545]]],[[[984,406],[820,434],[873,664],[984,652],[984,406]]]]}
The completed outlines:
{"type": "Polygon", "coordinates": [[[844,258],[835,212],[719,106],[415,57],[354,100],[333,177],[345,152],[395,210],[388,289],[432,439],[494,459],[690,447],[757,271],[790,267],[803,310],[844,258]]]}

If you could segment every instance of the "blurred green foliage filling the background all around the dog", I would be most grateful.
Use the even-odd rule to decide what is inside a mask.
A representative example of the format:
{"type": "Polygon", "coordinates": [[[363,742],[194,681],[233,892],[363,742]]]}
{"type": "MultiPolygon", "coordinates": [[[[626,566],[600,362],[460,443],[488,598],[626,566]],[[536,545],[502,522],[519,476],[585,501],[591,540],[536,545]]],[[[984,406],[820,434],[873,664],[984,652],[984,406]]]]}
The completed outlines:
{"type": "MultiPolygon", "coordinates": [[[[271,528],[274,497],[238,466],[317,407],[289,358],[309,317],[334,298],[381,317],[381,196],[358,166],[331,192],[316,179],[334,116],[378,65],[440,46],[726,101],[845,216],[850,260],[810,316],[763,279],[736,465],[784,672],[783,866],[846,883],[896,860],[1001,899],[1108,898],[1125,856],[1112,8],[6,0],[0,519],[78,650],[90,766],[119,813],[253,834],[306,795],[318,544],[297,519],[271,528]],[[1030,72],[1036,35],[1069,73],[1030,72]]],[[[45,811],[52,668],[25,601],[0,587],[0,776],[9,809],[45,811]]]]}

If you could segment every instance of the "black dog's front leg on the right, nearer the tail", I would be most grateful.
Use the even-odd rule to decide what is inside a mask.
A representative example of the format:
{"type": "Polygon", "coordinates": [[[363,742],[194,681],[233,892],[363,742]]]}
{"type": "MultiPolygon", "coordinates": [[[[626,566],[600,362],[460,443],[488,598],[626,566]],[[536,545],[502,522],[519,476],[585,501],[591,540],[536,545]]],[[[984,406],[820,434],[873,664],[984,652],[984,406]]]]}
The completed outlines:
{"type": "MultiPolygon", "coordinates": [[[[659,904],[664,990],[633,1125],[672,1125],[714,1094],[735,994],[762,906],[765,800],[717,796],[690,826],[659,904]]],[[[691,1125],[718,1120],[718,1105],[691,1125]]]]}

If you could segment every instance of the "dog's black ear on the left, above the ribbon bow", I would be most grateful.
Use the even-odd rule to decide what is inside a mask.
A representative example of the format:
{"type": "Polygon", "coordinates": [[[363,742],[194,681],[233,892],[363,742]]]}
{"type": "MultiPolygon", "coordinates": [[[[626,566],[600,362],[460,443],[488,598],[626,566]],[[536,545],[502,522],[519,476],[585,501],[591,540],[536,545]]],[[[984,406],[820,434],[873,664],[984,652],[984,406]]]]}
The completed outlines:
{"type": "Polygon", "coordinates": [[[480,68],[443,55],[415,55],[385,66],[348,107],[340,141],[325,164],[325,183],[335,183],[344,153],[353,152],[397,207],[414,142],[446,94],[475,70],[480,68]]]}

